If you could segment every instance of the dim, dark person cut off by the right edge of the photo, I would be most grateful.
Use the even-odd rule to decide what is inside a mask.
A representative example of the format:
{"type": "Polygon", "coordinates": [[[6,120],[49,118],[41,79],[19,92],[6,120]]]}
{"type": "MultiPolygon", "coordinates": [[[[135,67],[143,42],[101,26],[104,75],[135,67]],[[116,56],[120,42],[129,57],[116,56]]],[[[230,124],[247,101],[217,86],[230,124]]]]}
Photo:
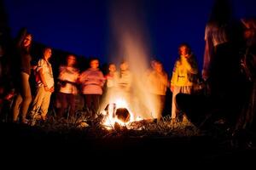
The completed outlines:
{"type": "Polygon", "coordinates": [[[252,142],[250,140],[253,138],[255,140],[256,133],[256,19],[243,18],[241,22],[244,25],[245,39],[244,52],[241,58],[241,71],[247,79],[246,89],[244,89],[246,98],[243,102],[241,114],[238,116],[233,136],[248,143],[252,142]],[[241,135],[242,133],[243,135],[241,135]]]}

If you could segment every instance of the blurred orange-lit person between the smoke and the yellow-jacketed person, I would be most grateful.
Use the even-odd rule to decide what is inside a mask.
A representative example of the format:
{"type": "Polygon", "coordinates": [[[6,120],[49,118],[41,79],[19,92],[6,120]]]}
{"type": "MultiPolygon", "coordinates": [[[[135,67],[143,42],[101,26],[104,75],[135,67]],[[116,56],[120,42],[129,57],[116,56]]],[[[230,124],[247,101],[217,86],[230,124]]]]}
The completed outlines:
{"type": "Polygon", "coordinates": [[[168,76],[160,61],[154,59],[151,66],[152,71],[148,73],[148,92],[152,94],[155,104],[154,118],[160,121],[166,102],[168,76]]]}

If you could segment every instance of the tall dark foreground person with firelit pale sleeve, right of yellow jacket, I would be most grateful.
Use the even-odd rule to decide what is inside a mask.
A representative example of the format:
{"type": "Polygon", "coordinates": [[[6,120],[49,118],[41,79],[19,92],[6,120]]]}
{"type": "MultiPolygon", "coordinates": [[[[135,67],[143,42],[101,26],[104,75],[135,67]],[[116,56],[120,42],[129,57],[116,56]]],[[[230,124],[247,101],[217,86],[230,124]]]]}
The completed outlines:
{"type": "MultiPolygon", "coordinates": [[[[209,84],[216,115],[224,122],[234,123],[241,94],[240,59],[232,41],[231,5],[228,0],[216,0],[205,31],[205,54],[202,77],[209,84]],[[229,102],[227,102],[229,101],[229,102]]],[[[237,35],[236,35],[237,36],[237,35]]]]}

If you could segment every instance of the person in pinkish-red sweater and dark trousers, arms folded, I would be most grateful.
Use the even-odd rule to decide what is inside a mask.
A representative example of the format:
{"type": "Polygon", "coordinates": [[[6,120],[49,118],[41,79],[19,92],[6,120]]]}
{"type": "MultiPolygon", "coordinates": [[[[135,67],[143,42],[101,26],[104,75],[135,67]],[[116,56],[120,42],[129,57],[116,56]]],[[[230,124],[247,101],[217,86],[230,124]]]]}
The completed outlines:
{"type": "Polygon", "coordinates": [[[90,68],[81,73],[79,82],[82,84],[84,107],[88,109],[90,116],[95,118],[105,82],[103,73],[99,69],[98,59],[90,59],[90,68]]]}

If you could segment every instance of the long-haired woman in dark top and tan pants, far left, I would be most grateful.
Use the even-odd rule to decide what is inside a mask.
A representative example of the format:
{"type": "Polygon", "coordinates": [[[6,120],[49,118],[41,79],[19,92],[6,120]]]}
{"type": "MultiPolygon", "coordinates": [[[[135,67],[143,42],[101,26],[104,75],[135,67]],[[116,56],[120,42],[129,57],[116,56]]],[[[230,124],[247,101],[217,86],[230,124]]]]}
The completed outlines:
{"type": "Polygon", "coordinates": [[[31,60],[30,48],[32,45],[32,34],[28,33],[25,28],[20,30],[20,35],[17,38],[15,44],[15,66],[14,80],[16,96],[12,109],[13,122],[17,122],[20,117],[21,123],[27,123],[26,114],[28,107],[32,101],[31,88],[29,83],[29,77],[31,74],[31,60]]]}

